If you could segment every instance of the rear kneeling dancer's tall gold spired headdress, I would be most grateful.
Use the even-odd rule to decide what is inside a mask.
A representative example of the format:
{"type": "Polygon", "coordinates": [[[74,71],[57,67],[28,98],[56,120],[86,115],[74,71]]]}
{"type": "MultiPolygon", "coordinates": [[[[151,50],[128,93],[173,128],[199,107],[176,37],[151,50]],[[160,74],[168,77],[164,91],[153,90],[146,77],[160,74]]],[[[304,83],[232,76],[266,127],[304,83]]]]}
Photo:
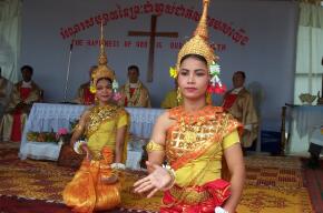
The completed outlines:
{"type": "Polygon", "coordinates": [[[116,90],[118,88],[118,83],[116,81],[115,71],[108,65],[107,53],[105,50],[105,39],[104,39],[104,26],[101,23],[101,38],[100,38],[100,54],[98,60],[98,68],[94,70],[91,74],[91,85],[90,91],[96,93],[97,81],[101,78],[108,78],[112,81],[112,89],[116,90]]]}

